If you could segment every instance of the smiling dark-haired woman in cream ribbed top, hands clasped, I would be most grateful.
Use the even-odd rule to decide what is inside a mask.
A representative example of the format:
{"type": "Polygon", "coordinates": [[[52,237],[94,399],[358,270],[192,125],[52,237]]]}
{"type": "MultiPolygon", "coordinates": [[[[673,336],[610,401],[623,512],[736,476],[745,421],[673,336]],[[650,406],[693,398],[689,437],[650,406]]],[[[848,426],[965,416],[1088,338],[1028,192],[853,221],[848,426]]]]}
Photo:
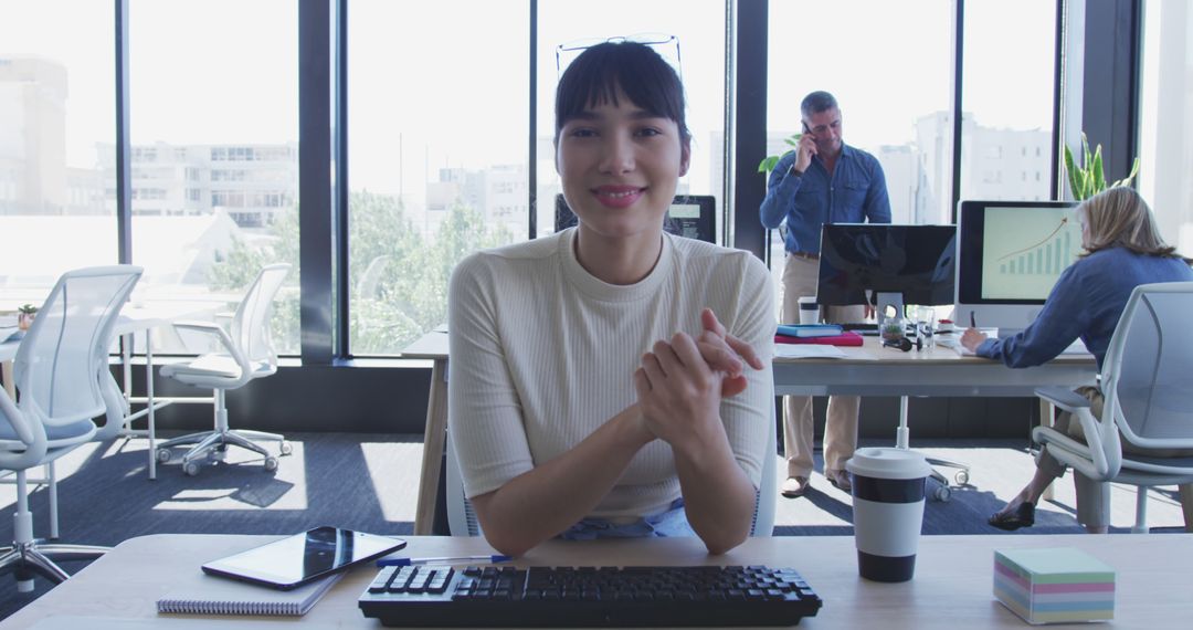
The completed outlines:
{"type": "Polygon", "coordinates": [[[651,48],[585,50],[555,113],[577,227],[474,254],[451,280],[447,425],[464,493],[503,554],[693,532],[727,551],[749,533],[774,455],[759,360],[775,328],[769,274],[747,252],[663,231],[691,136],[679,76],[651,48]]]}

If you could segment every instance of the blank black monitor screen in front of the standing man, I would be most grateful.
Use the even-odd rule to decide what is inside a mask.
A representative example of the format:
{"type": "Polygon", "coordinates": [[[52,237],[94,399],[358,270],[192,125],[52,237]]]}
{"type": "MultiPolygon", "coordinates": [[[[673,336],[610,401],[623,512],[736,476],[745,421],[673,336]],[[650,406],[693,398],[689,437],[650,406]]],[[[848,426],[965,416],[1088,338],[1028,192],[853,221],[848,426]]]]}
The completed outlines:
{"type": "Polygon", "coordinates": [[[816,301],[865,304],[870,290],[903,294],[905,304],[952,304],[956,241],[954,226],[826,224],[816,301]]]}

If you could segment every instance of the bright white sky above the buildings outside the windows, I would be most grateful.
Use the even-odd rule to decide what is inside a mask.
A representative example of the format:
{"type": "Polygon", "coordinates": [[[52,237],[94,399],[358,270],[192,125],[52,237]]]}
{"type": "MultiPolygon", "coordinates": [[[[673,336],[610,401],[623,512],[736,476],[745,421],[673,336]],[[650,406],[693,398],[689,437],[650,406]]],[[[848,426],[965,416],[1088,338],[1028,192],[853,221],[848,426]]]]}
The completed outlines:
{"type": "MultiPolygon", "coordinates": [[[[847,142],[913,140],[917,117],[950,105],[951,5],[772,2],[771,129],[798,130],[799,99],[828,89],[841,103],[847,142]]],[[[131,0],[134,143],[297,140],[296,7],[292,0],[131,0]]],[[[1050,128],[1051,2],[970,1],[966,11],[966,111],[987,126],[1050,128]]],[[[0,24],[0,56],[36,52],[66,64],[68,161],[93,166],[94,143],[115,134],[112,5],[0,0],[0,12],[16,16],[0,24]]],[[[397,192],[402,172],[406,192],[421,194],[443,166],[525,162],[528,48],[511,42],[527,41],[526,12],[521,0],[350,4],[353,189],[397,192]]],[[[543,0],[539,12],[539,135],[552,131],[556,44],[672,33],[697,141],[690,177],[707,177],[718,150],[710,134],[723,119],[723,1],[608,0],[594,11],[588,1],[543,0]]]]}

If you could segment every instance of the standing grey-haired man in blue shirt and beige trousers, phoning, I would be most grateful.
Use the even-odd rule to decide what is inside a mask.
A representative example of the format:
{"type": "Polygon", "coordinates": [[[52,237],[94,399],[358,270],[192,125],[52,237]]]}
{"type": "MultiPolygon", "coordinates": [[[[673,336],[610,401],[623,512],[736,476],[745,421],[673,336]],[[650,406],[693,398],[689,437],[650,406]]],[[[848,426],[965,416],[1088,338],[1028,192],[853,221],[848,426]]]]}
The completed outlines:
{"type": "MultiPolygon", "coordinates": [[[[828,92],[812,92],[799,104],[803,135],[795,152],[784,155],[771,172],[762,226],[786,224],[783,267],[783,322],[799,322],[799,297],[816,295],[820,274],[820,235],[824,223],[890,223],[886,178],[878,160],[841,141],[841,110],[828,92]]],[[[864,321],[867,308],[821,307],[826,321],[864,321]]],[[[824,422],[824,477],[849,492],[845,463],[858,446],[858,396],[830,396],[824,422]]],[[[783,441],[787,480],[780,493],[787,498],[808,492],[812,471],[812,399],[785,396],[783,441]]]]}

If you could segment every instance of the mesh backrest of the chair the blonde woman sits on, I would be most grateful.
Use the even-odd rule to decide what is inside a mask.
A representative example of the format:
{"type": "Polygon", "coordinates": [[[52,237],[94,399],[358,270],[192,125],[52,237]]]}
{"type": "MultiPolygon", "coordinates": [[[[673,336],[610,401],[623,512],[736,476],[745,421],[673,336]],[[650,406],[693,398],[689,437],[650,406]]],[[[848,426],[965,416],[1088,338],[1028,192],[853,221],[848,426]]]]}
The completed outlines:
{"type": "Polygon", "coordinates": [[[1137,286],[1102,365],[1106,412],[1126,441],[1193,449],[1193,283],[1137,286]]]}

